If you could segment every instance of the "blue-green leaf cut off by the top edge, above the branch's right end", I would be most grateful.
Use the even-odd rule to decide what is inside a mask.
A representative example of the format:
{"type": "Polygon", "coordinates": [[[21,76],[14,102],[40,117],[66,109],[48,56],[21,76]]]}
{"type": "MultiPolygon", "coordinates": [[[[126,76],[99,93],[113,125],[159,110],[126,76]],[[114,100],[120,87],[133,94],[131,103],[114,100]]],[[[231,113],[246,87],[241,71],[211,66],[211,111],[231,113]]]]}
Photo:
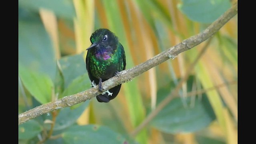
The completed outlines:
{"type": "Polygon", "coordinates": [[[230,0],[182,0],[182,4],[178,4],[189,19],[202,23],[214,22],[230,6],[230,0]]]}

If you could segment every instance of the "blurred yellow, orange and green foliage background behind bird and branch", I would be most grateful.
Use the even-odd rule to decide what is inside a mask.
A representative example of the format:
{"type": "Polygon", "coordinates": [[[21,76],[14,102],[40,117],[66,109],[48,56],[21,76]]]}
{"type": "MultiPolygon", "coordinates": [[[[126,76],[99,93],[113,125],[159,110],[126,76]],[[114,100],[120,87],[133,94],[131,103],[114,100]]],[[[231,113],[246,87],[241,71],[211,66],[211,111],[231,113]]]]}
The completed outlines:
{"type": "MultiPolygon", "coordinates": [[[[232,5],[230,0],[18,2],[19,114],[91,87],[84,58],[94,30],[108,28],[118,36],[129,69],[198,34],[232,5]]],[[[130,133],[170,95],[205,42],[123,84],[109,103],[93,98],[21,124],[19,143],[235,144],[238,93],[231,83],[237,81],[237,43],[235,16],[212,37],[180,89],[182,97],[135,138],[130,133]]]]}

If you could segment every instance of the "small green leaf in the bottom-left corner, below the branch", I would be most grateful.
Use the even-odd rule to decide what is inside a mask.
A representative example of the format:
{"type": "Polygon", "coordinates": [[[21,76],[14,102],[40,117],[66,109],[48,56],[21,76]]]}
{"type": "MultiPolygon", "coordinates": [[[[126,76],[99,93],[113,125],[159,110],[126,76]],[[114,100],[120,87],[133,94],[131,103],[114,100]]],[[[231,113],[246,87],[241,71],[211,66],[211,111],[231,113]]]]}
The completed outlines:
{"type": "Polygon", "coordinates": [[[43,130],[42,126],[35,120],[30,120],[19,125],[19,139],[29,139],[38,135],[43,130]]]}

